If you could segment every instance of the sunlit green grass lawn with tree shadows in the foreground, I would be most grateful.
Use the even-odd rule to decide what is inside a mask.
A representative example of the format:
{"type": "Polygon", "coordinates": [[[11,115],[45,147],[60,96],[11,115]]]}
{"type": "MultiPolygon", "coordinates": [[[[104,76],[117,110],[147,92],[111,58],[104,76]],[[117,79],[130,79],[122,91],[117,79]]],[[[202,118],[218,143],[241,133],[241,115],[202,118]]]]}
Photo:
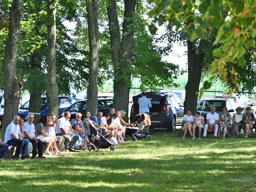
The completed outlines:
{"type": "Polygon", "coordinates": [[[256,138],[191,140],[165,129],[151,135],[129,138],[116,151],[6,160],[0,191],[256,191],[256,138]]]}

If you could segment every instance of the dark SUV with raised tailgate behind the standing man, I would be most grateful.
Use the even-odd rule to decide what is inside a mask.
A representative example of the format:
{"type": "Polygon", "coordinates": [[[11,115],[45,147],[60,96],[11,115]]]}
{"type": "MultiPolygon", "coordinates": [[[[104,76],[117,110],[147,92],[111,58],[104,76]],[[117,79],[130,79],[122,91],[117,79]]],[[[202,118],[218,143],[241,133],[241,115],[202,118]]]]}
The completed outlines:
{"type": "MultiPolygon", "coordinates": [[[[134,121],[135,115],[139,113],[138,99],[140,97],[141,94],[132,97],[131,122],[134,121]]],[[[175,131],[176,125],[182,124],[184,106],[175,93],[170,90],[147,92],[146,97],[152,104],[152,108],[149,108],[149,111],[154,112],[154,115],[150,117],[152,126],[167,128],[168,131],[175,131]]]]}

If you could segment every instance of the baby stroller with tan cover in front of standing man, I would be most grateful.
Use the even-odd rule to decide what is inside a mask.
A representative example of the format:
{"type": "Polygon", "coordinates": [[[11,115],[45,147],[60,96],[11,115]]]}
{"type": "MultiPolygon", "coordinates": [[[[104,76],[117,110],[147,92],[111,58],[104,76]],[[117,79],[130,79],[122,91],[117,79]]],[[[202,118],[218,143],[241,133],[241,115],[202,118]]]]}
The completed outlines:
{"type": "Polygon", "coordinates": [[[147,141],[152,140],[152,136],[149,132],[145,131],[146,126],[151,125],[150,117],[154,113],[150,113],[150,115],[143,113],[143,114],[137,114],[134,119],[135,127],[126,127],[126,135],[129,135],[132,137],[133,141],[142,140],[143,138],[146,138],[147,141]]]}

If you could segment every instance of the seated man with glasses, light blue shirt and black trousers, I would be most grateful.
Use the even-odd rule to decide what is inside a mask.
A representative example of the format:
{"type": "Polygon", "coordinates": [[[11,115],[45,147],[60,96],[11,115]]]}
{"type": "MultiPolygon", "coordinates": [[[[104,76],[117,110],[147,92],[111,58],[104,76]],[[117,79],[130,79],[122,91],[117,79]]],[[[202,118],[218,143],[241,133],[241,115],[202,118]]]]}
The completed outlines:
{"type": "Polygon", "coordinates": [[[35,125],[33,124],[34,121],[34,114],[29,113],[28,114],[28,121],[24,123],[22,126],[23,132],[25,134],[25,139],[28,139],[30,143],[32,143],[33,150],[32,150],[32,156],[31,159],[34,158],[45,158],[43,156],[43,147],[42,147],[42,141],[40,139],[36,139],[35,135],[35,125]],[[36,146],[38,149],[38,157],[36,157],[36,146]]]}

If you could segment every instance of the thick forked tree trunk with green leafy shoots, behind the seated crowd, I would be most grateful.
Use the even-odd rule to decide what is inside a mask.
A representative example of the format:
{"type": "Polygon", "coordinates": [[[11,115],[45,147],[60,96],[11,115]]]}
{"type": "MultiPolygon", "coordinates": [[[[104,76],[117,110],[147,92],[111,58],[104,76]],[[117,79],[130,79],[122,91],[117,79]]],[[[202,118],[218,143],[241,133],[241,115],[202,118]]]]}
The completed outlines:
{"type": "MultiPolygon", "coordinates": [[[[136,0],[124,1],[124,22],[122,44],[119,33],[116,1],[108,0],[108,25],[110,34],[111,55],[114,64],[114,103],[116,110],[124,110],[128,114],[129,92],[131,86],[130,60],[132,58],[133,29],[132,13],[136,0]]],[[[128,121],[128,116],[124,116],[128,121]]]]}

